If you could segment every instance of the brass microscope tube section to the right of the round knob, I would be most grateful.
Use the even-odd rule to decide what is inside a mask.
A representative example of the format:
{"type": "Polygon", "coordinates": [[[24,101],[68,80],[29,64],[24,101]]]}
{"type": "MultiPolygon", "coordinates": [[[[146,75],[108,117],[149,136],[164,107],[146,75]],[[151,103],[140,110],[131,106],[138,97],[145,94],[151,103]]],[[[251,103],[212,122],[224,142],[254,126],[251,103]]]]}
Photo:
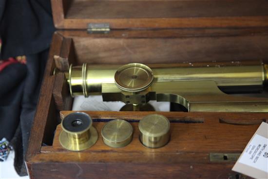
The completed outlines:
{"type": "Polygon", "coordinates": [[[155,81],[214,80],[218,86],[263,85],[262,65],[153,69],[155,81]]]}

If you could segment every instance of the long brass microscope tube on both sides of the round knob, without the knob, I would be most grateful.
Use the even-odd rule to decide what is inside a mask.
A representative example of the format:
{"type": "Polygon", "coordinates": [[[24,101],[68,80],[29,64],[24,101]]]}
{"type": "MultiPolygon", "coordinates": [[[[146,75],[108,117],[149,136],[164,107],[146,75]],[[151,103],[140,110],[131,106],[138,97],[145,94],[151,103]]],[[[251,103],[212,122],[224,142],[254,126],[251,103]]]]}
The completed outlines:
{"type": "MultiPolygon", "coordinates": [[[[134,63],[138,64],[138,63],[134,63]]],[[[150,66],[150,65],[149,65],[150,66]]],[[[151,65],[153,82],[183,80],[213,80],[219,87],[259,86],[268,83],[268,65],[215,65],[180,66],[180,64],[151,65]]],[[[100,94],[103,83],[115,83],[115,73],[121,65],[72,66],[65,76],[70,84],[72,96],[100,94]]]]}

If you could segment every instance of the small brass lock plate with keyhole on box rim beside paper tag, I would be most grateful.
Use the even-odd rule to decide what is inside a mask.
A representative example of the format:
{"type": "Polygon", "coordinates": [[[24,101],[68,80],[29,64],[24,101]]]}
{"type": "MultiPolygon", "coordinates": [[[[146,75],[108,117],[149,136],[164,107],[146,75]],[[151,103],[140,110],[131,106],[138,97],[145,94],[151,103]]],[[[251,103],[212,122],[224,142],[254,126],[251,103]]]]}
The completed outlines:
{"type": "Polygon", "coordinates": [[[237,161],[240,153],[210,153],[210,161],[237,161]]]}

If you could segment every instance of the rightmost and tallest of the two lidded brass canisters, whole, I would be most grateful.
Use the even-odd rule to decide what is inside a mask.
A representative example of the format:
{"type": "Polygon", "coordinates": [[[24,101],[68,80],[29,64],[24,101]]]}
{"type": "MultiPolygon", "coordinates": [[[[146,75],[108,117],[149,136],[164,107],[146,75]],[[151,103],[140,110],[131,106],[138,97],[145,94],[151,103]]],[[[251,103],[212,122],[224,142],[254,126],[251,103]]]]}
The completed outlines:
{"type": "Polygon", "coordinates": [[[148,148],[159,148],[170,140],[170,121],[158,114],[145,116],[139,122],[139,139],[148,148]]]}

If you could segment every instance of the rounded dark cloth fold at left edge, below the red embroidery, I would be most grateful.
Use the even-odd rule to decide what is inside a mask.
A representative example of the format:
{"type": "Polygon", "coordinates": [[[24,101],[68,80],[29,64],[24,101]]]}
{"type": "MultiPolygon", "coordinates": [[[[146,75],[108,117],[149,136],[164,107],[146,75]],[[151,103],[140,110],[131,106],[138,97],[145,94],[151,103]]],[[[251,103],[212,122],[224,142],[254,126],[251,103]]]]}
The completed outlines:
{"type": "Polygon", "coordinates": [[[15,63],[0,73],[0,139],[10,141],[19,124],[20,102],[26,66],[15,63]]]}

